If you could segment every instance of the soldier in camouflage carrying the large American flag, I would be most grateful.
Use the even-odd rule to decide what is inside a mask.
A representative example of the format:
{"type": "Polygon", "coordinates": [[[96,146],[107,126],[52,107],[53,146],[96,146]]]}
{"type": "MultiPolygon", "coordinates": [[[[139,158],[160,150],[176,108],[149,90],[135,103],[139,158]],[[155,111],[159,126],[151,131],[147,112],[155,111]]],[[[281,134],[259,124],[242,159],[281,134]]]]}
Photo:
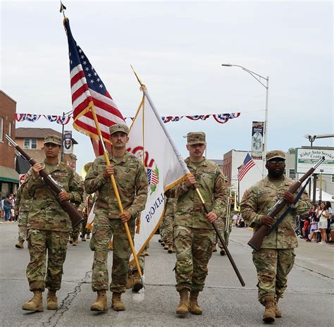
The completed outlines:
{"type": "Polygon", "coordinates": [[[116,311],[125,310],[120,295],[126,290],[128,264],[131,254],[124,223],[128,222],[132,239],[135,235],[135,218],[144,210],[147,200],[147,173],[143,164],[135,156],[126,152],[128,127],[122,124],[110,127],[112,152],[110,166],[106,166],[104,156],[98,156],[85,178],[88,194],[99,191],[94,207],[94,227],[91,248],[94,249],[92,290],[97,292],[97,300],[92,311],[107,311],[106,290],[109,288],[108,245],[113,236],[113,269],[110,290],[113,292],[112,307],[116,311]],[[117,199],[110,183],[115,175],[118,192],[124,212],[120,214],[117,199]]]}

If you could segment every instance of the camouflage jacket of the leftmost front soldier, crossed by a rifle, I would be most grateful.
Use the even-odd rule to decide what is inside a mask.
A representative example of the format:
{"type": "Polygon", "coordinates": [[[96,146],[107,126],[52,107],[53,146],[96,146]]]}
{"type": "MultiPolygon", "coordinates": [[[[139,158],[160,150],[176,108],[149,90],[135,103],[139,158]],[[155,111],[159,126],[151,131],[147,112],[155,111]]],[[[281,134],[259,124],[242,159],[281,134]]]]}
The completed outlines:
{"type": "MultiPolygon", "coordinates": [[[[44,163],[41,163],[44,165],[44,163]]],[[[82,187],[80,176],[70,166],[58,163],[53,171],[47,171],[54,180],[60,183],[66,192],[70,193],[70,202],[82,202],[82,187]]],[[[55,197],[49,191],[41,177],[35,178],[32,168],[27,173],[23,183],[23,197],[32,199],[31,209],[27,219],[28,229],[57,230],[68,232],[72,230],[68,214],[61,208],[55,197]]]]}

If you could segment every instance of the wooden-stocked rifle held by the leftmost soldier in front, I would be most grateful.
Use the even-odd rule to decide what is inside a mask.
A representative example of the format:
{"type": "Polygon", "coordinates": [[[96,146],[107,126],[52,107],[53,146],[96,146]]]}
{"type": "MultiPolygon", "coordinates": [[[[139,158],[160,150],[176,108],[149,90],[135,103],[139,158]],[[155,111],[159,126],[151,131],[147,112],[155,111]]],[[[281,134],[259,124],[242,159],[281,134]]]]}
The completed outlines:
{"type": "MultiPolygon", "coordinates": [[[[18,146],[18,144],[11,139],[11,137],[6,135],[6,139],[8,140],[8,142],[10,142],[13,145],[13,147],[15,147],[16,151],[20,154],[20,156],[22,156],[23,159],[25,159],[28,163],[30,163],[30,166],[35,165],[36,161],[32,159],[29,156],[29,154],[23,151],[23,149],[21,149],[18,146]]],[[[54,195],[56,201],[61,205],[61,208],[63,209],[63,211],[65,211],[70,217],[70,221],[72,222],[73,228],[75,226],[78,226],[79,223],[82,222],[83,218],[79,214],[77,209],[75,209],[73,204],[71,204],[69,201],[60,201],[58,199],[58,194],[63,191],[63,185],[61,185],[56,180],[54,180],[54,178],[52,178],[51,175],[49,175],[49,173],[47,173],[45,169],[42,169],[42,171],[39,171],[39,175],[41,175],[42,180],[44,180],[44,183],[47,185],[51,194],[54,195]]]]}

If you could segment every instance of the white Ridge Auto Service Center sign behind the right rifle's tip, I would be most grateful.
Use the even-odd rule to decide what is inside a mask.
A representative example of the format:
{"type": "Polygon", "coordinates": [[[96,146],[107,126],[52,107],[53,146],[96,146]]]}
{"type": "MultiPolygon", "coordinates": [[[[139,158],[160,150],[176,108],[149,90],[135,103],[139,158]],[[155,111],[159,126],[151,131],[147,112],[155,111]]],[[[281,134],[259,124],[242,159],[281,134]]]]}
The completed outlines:
{"type": "Polygon", "coordinates": [[[325,161],[314,173],[321,170],[323,175],[334,175],[334,150],[327,149],[296,149],[296,173],[306,173],[323,156],[325,161]]]}

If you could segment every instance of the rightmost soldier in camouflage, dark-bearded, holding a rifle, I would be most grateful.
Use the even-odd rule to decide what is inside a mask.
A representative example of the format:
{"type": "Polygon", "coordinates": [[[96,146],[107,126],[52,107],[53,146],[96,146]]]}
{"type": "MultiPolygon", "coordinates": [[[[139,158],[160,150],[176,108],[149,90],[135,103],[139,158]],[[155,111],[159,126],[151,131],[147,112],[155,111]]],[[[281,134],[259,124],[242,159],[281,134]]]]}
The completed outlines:
{"type": "Polygon", "coordinates": [[[266,168],[268,175],[254,186],[245,191],[241,202],[241,213],[245,222],[252,228],[254,233],[262,225],[271,226],[276,218],[292,206],[284,220],[278,226],[277,231],[264,238],[259,251],[253,251],[253,262],[259,280],[259,302],[265,306],[263,320],[275,321],[276,317],[282,316],[278,309],[278,299],[283,297],[287,288],[287,274],[291,271],[295,261],[294,248],[297,247],[297,236],[295,233],[295,216],[307,214],[311,203],[307,192],[302,194],[296,205],[293,205],[295,194],[287,192],[294,180],[285,177],[285,153],[280,150],[266,154],[266,168]],[[277,217],[267,216],[269,209],[283,197],[287,202],[285,208],[277,217]]]}

